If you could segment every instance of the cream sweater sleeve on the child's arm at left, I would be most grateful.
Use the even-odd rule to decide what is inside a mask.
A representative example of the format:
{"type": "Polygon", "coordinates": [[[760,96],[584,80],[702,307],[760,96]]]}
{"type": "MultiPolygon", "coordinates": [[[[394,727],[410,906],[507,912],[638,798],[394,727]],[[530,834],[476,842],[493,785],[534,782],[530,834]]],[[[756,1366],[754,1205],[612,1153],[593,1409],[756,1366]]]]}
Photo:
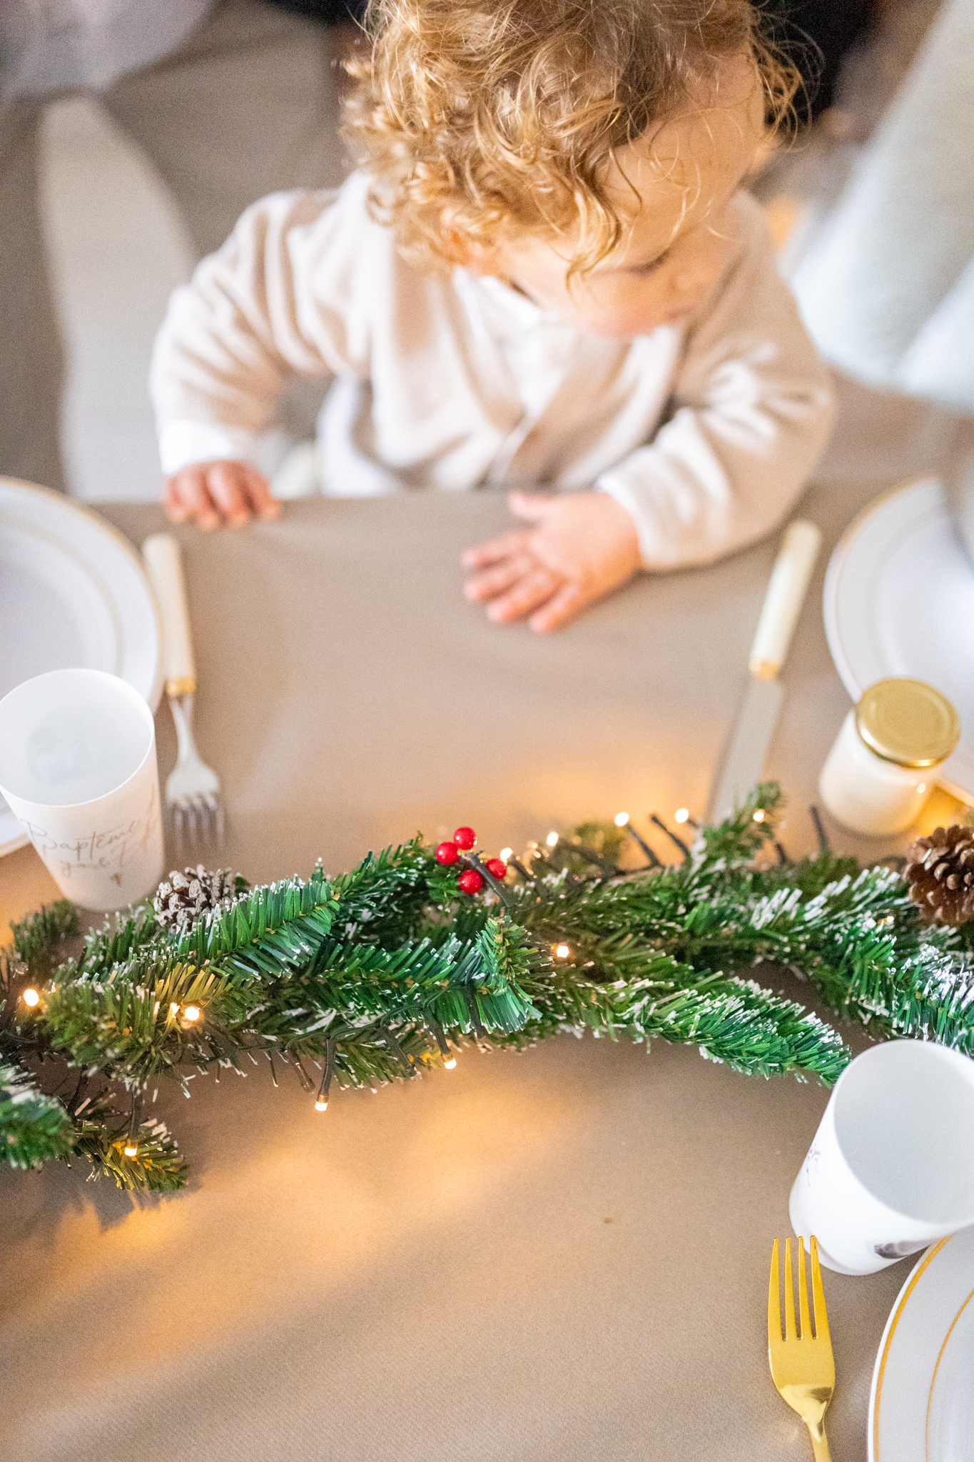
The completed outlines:
{"type": "Polygon", "coordinates": [[[202,459],[193,443],[225,437],[238,444],[229,455],[245,455],[289,377],[358,374],[362,322],[348,304],[356,213],[342,194],[270,194],[172,294],[149,377],[169,471],[202,459]]]}

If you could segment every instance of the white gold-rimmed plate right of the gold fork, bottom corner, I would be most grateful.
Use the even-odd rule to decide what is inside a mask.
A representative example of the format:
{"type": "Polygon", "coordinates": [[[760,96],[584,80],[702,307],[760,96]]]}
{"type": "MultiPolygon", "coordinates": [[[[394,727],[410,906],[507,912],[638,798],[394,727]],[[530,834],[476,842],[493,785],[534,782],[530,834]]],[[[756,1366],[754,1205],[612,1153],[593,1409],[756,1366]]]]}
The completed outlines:
{"type": "Polygon", "coordinates": [[[974,1228],[942,1238],[886,1320],[869,1398],[869,1462],[974,1459],[974,1228]]]}

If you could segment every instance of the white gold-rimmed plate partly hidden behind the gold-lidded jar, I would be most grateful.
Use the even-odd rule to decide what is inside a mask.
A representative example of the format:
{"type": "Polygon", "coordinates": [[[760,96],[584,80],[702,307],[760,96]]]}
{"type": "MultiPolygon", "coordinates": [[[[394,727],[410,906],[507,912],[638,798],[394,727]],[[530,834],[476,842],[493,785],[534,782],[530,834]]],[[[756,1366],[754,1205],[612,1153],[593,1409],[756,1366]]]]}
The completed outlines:
{"type": "Polygon", "coordinates": [[[825,575],[824,608],[853,700],[885,675],[913,675],[954,702],[961,740],[937,782],[974,801],[974,566],[936,478],[886,493],[847,528],[825,575]]]}

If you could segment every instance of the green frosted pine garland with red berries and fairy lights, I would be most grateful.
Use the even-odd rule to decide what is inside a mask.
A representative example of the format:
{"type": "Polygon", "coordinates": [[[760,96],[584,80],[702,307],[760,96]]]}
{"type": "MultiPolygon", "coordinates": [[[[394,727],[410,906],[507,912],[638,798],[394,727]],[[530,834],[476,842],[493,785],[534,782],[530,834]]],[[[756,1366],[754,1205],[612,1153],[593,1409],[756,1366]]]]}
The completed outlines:
{"type": "Polygon", "coordinates": [[[827,848],[790,861],[780,794],[759,787],[664,866],[618,860],[626,832],[584,825],[527,866],[472,851],[470,829],[419,838],[352,873],[250,889],[187,870],[79,942],[67,902],[13,927],[0,978],[0,1142],[13,1167],[85,1158],[120,1187],[181,1187],[158,1083],[190,1067],[294,1069],[329,1089],[412,1077],[463,1042],[530,1045],[558,1032],[691,1042],[759,1076],[831,1085],[850,1058],[818,1016],[745,978],[787,965],[876,1035],[974,1054],[974,925],[926,923],[904,876],[827,848]],[[777,849],[778,863],[767,854],[777,849]],[[193,892],[194,880],[199,883],[193,892]],[[209,880],[209,882],[207,882],[209,880]],[[175,912],[174,912],[175,911],[175,912]],[[178,915],[178,917],[177,917],[178,915]]]}

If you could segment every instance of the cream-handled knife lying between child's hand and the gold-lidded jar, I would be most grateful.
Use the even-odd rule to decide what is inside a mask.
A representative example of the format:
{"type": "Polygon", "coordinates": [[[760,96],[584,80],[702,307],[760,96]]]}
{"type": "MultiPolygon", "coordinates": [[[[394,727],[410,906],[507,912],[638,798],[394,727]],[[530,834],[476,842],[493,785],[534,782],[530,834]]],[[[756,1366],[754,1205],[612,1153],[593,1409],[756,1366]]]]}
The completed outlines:
{"type": "Polygon", "coordinates": [[[723,772],[718,770],[710,788],[710,823],[730,817],[761,781],[764,759],[784,700],[778,671],[789,654],[821,545],[822,534],[815,523],[799,520],[789,525],[771,570],[748,656],[748,690],[737,712],[730,750],[723,772]]]}

